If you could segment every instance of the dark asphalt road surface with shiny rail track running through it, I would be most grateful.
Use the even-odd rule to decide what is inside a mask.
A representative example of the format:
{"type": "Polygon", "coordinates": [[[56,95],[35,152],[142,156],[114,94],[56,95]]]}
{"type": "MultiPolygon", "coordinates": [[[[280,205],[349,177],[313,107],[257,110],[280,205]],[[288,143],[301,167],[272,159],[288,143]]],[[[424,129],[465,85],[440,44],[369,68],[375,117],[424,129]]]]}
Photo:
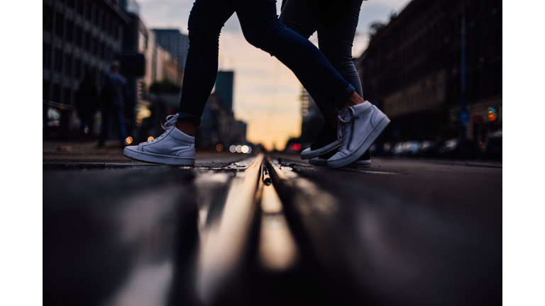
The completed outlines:
{"type": "Polygon", "coordinates": [[[499,305],[502,165],[44,144],[45,305],[499,305]]]}

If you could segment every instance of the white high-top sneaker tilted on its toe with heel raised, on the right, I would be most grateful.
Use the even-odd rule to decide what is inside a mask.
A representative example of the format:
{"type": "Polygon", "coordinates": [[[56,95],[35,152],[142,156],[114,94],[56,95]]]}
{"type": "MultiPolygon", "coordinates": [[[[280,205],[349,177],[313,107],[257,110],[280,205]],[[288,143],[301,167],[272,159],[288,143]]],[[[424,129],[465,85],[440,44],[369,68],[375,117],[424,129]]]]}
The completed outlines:
{"type": "Polygon", "coordinates": [[[343,144],[327,160],[327,165],[331,168],[340,168],[355,162],[390,123],[390,119],[368,101],[344,108],[338,114],[338,120],[343,144]]]}

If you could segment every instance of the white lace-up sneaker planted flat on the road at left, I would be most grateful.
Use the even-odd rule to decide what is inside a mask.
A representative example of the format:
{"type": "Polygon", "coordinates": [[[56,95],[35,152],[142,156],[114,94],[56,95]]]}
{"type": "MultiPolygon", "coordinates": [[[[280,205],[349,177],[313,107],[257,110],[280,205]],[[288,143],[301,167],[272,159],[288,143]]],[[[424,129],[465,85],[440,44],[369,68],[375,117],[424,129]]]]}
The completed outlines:
{"type": "Polygon", "coordinates": [[[163,135],[140,145],[125,147],[123,155],[142,162],[194,166],[195,137],[178,130],[174,125],[177,120],[178,114],[167,116],[167,122],[161,125],[165,129],[163,135]]]}

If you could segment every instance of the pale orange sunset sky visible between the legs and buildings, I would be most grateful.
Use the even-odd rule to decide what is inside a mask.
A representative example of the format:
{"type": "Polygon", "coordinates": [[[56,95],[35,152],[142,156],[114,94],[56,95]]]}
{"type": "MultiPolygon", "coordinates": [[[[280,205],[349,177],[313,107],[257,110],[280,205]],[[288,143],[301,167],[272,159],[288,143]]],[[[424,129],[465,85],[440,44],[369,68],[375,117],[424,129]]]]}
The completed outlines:
{"type": "MultiPolygon", "coordinates": [[[[140,16],[148,28],[179,28],[187,34],[187,19],[194,0],[137,0],[140,16]]],[[[399,13],[409,0],[363,1],[353,46],[359,57],[368,43],[370,23],[387,23],[390,13],[399,13]]],[[[281,1],[277,2],[280,13],[281,1]]],[[[317,45],[316,35],[310,40],[317,45]]],[[[248,141],[268,149],[283,149],[287,137],[301,133],[299,94],[301,84],[290,69],[243,37],[236,14],[226,22],[220,36],[219,69],[235,72],[233,111],[248,123],[248,141]]]]}

